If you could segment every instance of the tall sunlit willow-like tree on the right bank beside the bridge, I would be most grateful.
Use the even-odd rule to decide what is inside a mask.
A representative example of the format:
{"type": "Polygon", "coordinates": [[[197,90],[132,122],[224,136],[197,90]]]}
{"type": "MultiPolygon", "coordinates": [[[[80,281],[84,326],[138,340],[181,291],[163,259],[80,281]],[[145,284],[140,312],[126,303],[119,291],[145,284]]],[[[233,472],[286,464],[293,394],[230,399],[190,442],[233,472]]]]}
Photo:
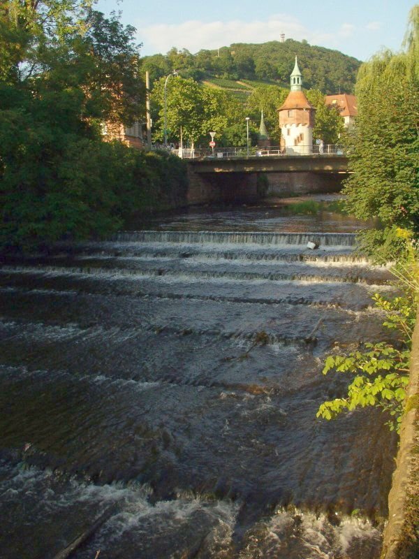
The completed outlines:
{"type": "MultiPolygon", "coordinates": [[[[360,68],[355,92],[358,117],[349,138],[344,193],[357,217],[379,217],[382,232],[366,235],[385,242],[392,228],[419,235],[419,6],[411,11],[406,50],[385,50],[360,68]]],[[[388,258],[394,254],[388,254],[388,258]]]]}

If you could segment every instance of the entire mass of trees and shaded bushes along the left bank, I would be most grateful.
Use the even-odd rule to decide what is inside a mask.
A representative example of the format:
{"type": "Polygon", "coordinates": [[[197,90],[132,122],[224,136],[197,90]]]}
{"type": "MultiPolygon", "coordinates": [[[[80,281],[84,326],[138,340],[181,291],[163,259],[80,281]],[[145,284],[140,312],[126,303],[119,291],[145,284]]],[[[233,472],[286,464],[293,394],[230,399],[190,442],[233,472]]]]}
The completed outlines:
{"type": "Polygon", "coordinates": [[[79,0],[0,6],[0,249],[109,235],[184,200],[184,164],[105,143],[142,115],[133,27],[79,0]]]}

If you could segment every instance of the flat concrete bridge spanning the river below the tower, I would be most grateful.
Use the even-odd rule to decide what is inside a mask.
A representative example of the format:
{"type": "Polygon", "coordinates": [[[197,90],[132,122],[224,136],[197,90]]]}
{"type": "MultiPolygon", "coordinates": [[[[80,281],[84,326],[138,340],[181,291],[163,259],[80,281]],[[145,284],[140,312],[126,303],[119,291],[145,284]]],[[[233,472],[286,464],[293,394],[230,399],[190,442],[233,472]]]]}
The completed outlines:
{"type": "Polygon", "coordinates": [[[278,196],[337,192],[348,173],[344,154],[281,157],[204,157],[187,161],[190,204],[254,201],[278,196]]]}

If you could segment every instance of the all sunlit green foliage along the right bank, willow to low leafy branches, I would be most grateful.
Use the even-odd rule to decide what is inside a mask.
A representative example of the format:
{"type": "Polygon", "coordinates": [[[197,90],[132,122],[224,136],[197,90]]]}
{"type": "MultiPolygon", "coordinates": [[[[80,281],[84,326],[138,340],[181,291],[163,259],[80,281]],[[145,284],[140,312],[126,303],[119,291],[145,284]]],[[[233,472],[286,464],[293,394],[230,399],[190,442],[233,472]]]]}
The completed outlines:
{"type": "Polygon", "coordinates": [[[402,419],[409,381],[411,335],[419,303],[419,5],[411,10],[406,49],[381,52],[363,64],[355,92],[358,119],[348,136],[346,209],[360,219],[378,217],[382,230],[362,233],[360,250],[377,263],[392,262],[403,296],[374,297],[385,312],[384,326],[398,328],[397,344],[365,344],[349,354],[332,354],[330,370],[354,375],[344,398],[324,402],[318,416],[332,419],[356,407],[379,405],[395,428],[402,419]]]}

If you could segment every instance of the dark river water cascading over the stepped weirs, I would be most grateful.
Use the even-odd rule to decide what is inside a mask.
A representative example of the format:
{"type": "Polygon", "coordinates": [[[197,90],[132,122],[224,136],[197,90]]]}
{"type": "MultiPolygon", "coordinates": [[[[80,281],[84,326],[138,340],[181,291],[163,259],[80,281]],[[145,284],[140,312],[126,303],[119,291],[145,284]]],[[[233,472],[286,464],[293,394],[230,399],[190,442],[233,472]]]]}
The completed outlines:
{"type": "Polygon", "coordinates": [[[383,337],[388,270],[351,220],[205,211],[2,266],[1,558],[98,518],[73,557],[379,557],[395,439],[316,409],[325,354],[383,337]]]}

